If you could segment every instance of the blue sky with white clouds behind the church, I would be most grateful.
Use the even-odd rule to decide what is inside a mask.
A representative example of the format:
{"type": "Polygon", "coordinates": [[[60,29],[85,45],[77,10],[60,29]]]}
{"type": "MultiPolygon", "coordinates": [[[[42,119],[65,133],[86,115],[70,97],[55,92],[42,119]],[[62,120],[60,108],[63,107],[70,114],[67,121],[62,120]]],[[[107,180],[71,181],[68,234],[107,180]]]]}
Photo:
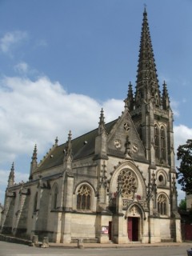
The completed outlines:
{"type": "MultiPolygon", "coordinates": [[[[159,86],[174,111],[174,152],[192,138],[191,0],[0,0],[0,202],[10,168],[27,181],[58,144],[110,122],[135,86],[146,6],[159,86]]],[[[179,163],[176,161],[176,166],[179,163]]],[[[185,194],[178,186],[178,200],[185,194]]],[[[179,202],[178,201],[178,202],[179,202]]]]}

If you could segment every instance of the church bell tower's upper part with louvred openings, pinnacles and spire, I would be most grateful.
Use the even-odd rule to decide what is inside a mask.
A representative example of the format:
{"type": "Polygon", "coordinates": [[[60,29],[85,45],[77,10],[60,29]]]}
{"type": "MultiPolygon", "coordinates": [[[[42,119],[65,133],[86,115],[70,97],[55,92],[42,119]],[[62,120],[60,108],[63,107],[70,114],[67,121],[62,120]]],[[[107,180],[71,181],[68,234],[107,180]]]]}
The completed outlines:
{"type": "Polygon", "coordinates": [[[146,8],[142,19],[135,94],[130,83],[125,102],[146,148],[150,169],[160,165],[174,170],[173,114],[166,82],[162,85],[162,94],[159,90],[146,8]]]}

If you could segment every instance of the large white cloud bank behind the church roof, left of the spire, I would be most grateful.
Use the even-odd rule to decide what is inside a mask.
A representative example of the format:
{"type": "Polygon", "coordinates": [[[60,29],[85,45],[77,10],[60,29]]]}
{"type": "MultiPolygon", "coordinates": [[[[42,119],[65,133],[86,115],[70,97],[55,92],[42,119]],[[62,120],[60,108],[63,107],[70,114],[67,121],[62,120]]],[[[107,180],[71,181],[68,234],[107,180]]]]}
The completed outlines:
{"type": "MultiPolygon", "coordinates": [[[[25,66],[25,65],[24,65],[25,66]]],[[[122,102],[103,104],[106,122],[117,118],[122,102]]],[[[14,161],[18,154],[32,154],[34,144],[42,154],[47,145],[66,142],[69,130],[73,138],[98,126],[102,106],[93,98],[67,94],[59,82],[48,78],[3,78],[0,81],[0,162],[14,161]]]]}

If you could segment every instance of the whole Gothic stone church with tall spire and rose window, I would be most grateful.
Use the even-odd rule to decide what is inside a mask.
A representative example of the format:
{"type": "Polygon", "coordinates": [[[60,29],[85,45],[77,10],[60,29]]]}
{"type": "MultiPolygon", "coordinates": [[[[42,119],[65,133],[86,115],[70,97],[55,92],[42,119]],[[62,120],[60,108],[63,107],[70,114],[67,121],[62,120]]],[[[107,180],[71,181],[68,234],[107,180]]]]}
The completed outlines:
{"type": "MultiPolygon", "coordinates": [[[[146,9],[136,85],[121,116],[78,138],[58,138],[41,162],[34,146],[27,182],[10,170],[1,233],[50,242],[182,242],[174,166],[173,112],[162,91],[146,9]]],[[[76,127],[77,128],[77,127],[76,127]]],[[[67,137],[67,136],[66,136],[67,137]]]]}

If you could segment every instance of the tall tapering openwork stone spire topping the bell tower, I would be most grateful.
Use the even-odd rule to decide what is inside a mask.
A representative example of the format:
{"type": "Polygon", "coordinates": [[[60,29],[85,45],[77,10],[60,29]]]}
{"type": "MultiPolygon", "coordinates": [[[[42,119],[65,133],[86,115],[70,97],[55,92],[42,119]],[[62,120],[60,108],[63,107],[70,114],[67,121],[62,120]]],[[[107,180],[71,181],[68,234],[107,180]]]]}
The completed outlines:
{"type": "Polygon", "coordinates": [[[154,52],[150,39],[150,29],[147,20],[146,7],[143,12],[142,34],[138,56],[138,74],[135,94],[135,104],[141,106],[142,101],[154,102],[154,106],[161,105],[161,95],[158,86],[158,74],[154,62],[154,52]]]}

